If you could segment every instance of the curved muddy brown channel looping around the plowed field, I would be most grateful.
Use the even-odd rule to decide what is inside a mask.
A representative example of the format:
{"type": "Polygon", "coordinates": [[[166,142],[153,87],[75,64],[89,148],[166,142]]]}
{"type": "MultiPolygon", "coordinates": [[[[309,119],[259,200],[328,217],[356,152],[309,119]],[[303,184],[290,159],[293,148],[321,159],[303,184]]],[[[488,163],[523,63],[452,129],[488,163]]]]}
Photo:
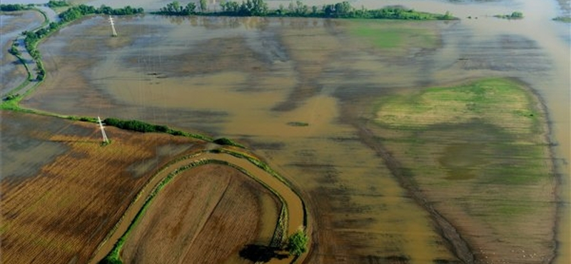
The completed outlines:
{"type": "MultiPolygon", "coordinates": [[[[107,238],[103,240],[98,246],[96,252],[89,261],[89,264],[98,263],[100,260],[105,258],[106,255],[111,252],[111,250],[113,250],[115,243],[123,236],[126,230],[128,230],[129,226],[136,218],[138,211],[141,210],[141,208],[145,205],[147,196],[153,192],[158,183],[161,183],[161,181],[163,181],[163,179],[167,176],[171,175],[171,173],[179,173],[183,171],[183,167],[190,169],[195,168],[190,165],[199,161],[215,161],[220,163],[227,163],[229,166],[233,166],[234,168],[245,172],[246,175],[260,182],[263,186],[270,189],[270,191],[276,193],[278,196],[281,196],[280,199],[283,200],[285,203],[285,208],[287,208],[287,235],[295,233],[295,231],[303,226],[305,226],[309,232],[310,226],[308,225],[305,204],[303,203],[303,200],[300,198],[300,196],[298,196],[298,194],[293,191],[293,189],[283,178],[278,176],[267,167],[266,169],[261,168],[260,164],[263,163],[258,161],[258,164],[255,164],[253,163],[254,160],[258,161],[256,158],[253,158],[252,156],[249,156],[247,153],[243,152],[204,151],[171,161],[171,163],[168,163],[166,166],[161,168],[161,170],[159,170],[151,178],[151,180],[148,181],[146,186],[141,189],[135,200],[131,202],[131,205],[129,205],[126,212],[123,214],[121,220],[118,221],[115,228],[111,230],[107,238]],[[243,155],[248,158],[241,158],[238,155],[243,155]]],[[[277,223],[277,225],[279,225],[279,223],[277,223]]],[[[270,263],[303,263],[306,255],[307,253],[304,253],[298,258],[290,257],[281,260],[274,258],[270,261],[270,263]]]]}

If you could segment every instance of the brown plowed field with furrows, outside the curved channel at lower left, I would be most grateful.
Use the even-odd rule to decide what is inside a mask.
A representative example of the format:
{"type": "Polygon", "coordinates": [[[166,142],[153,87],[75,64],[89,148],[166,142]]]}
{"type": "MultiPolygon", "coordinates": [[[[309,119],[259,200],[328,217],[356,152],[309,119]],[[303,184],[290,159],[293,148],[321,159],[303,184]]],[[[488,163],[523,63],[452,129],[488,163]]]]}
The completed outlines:
{"type": "MultiPolygon", "coordinates": [[[[17,115],[11,118],[18,118],[19,126],[26,126],[24,131],[38,131],[26,136],[30,140],[67,151],[50,163],[31,163],[39,168],[29,170],[34,174],[26,178],[6,178],[3,168],[2,263],[87,263],[156,168],[173,156],[202,148],[200,141],[190,138],[131,133],[111,127],[107,134],[113,143],[101,147],[95,124],[3,113],[9,115],[17,115]],[[53,121],[59,124],[58,132],[42,132],[36,122],[26,121],[29,118],[53,121]],[[149,166],[146,173],[134,173],[133,166],[141,161],[155,165],[149,166]]],[[[6,138],[10,133],[4,132],[3,151],[4,143],[16,138],[6,138]]],[[[44,145],[34,149],[41,150],[44,145]]]]}

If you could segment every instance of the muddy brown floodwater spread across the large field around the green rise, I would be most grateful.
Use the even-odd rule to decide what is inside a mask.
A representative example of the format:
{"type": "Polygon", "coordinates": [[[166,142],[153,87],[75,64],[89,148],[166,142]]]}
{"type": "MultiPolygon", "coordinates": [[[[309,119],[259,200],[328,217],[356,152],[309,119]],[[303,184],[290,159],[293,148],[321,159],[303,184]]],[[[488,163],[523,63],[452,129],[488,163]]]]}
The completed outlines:
{"type": "MultiPolygon", "coordinates": [[[[352,34],[363,26],[353,21],[147,15],[117,18],[120,36],[110,38],[106,20],[96,16],[40,46],[48,78],[24,106],[247,142],[305,197],[315,230],[308,263],[453,263],[458,253],[435,228],[434,214],[369,143],[383,135],[363,133],[373,111],[366,102],[474,78],[519,78],[547,105],[558,169],[567,177],[569,49],[568,32],[548,20],[538,24],[543,16],[503,21],[485,15],[512,11],[507,4],[438,3],[480,19],[364,22],[415,29],[398,48],[383,49],[352,34]],[[419,32],[437,45],[410,41],[419,32]]],[[[524,12],[535,8],[522,3],[524,12]]],[[[569,238],[557,240],[557,263],[566,263],[569,238]]]]}

